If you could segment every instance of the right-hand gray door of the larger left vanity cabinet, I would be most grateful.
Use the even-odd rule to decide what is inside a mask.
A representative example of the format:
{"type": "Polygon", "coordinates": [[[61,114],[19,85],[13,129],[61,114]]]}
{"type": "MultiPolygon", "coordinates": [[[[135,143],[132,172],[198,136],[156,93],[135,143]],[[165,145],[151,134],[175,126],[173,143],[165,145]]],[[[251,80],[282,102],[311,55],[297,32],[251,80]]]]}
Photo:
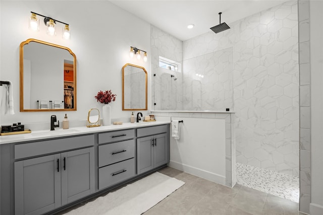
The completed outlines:
{"type": "Polygon", "coordinates": [[[61,154],[62,205],[87,196],[94,188],[94,148],[61,154]]]}

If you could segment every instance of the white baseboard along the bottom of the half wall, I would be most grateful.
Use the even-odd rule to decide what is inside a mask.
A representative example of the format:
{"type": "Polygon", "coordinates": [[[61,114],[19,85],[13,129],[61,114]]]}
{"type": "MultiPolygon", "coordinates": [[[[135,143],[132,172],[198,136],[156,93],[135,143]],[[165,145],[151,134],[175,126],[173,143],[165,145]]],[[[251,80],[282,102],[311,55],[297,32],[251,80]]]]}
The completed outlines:
{"type": "Polygon", "coordinates": [[[168,166],[178,169],[178,170],[181,170],[183,172],[207,179],[209,181],[213,181],[213,182],[216,182],[216,183],[219,183],[222,185],[226,185],[226,177],[223,175],[212,173],[212,172],[202,170],[202,169],[199,169],[196,167],[192,167],[189,165],[181,164],[181,163],[178,163],[178,162],[175,162],[172,160],[170,161],[168,166]]]}

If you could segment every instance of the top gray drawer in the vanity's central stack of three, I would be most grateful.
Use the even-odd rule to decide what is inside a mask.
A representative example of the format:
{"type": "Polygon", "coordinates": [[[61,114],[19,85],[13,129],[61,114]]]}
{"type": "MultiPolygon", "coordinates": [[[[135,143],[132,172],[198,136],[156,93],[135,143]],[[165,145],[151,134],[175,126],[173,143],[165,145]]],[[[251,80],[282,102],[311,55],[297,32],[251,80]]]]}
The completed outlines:
{"type": "Polygon", "coordinates": [[[105,133],[99,133],[99,144],[105,144],[107,142],[120,141],[135,137],[135,130],[118,130],[105,133]]]}

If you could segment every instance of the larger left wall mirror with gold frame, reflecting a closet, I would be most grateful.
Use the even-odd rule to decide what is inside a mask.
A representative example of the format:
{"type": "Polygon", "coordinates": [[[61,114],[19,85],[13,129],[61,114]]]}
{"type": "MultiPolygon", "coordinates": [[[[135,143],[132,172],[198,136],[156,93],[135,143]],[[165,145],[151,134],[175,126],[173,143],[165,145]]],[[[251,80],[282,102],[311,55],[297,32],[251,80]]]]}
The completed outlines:
{"type": "Polygon", "coordinates": [[[76,56],[71,49],[28,39],[20,44],[20,111],[75,111],[76,56]]]}

